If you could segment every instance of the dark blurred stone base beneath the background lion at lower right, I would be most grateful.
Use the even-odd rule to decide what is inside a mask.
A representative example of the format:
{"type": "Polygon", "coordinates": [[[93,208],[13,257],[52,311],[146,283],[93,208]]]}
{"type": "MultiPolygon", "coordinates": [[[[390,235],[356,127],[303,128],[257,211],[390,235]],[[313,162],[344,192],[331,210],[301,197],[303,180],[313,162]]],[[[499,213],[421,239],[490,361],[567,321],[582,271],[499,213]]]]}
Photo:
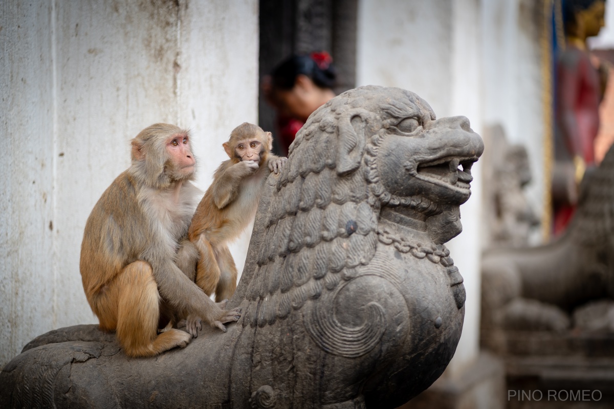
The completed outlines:
{"type": "Polygon", "coordinates": [[[505,361],[508,408],[614,407],[613,333],[495,331],[483,342],[505,361]]]}

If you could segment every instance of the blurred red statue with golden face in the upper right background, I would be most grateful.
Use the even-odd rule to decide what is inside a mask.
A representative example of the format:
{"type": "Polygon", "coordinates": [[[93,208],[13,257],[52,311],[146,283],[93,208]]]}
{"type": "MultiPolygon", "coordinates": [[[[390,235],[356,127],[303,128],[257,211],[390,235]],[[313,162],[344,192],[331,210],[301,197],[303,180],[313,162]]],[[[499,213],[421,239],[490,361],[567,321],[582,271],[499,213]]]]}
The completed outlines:
{"type": "Polygon", "coordinates": [[[561,234],[578,200],[578,185],[586,169],[595,166],[599,103],[605,90],[604,69],[588,52],[586,39],[605,25],[604,0],[562,2],[565,48],[556,67],[553,171],[553,232],[561,234]]]}

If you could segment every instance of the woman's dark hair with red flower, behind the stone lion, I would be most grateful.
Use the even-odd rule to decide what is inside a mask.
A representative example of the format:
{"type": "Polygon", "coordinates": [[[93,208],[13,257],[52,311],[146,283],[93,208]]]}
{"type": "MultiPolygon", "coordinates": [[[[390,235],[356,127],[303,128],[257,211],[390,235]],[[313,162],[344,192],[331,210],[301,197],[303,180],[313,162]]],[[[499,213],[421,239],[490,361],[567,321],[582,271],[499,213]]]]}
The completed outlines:
{"type": "Polygon", "coordinates": [[[333,59],[327,52],[309,55],[293,55],[279,63],[271,71],[274,88],[290,90],[298,75],[306,75],[320,88],[333,88],[336,81],[333,59]]]}

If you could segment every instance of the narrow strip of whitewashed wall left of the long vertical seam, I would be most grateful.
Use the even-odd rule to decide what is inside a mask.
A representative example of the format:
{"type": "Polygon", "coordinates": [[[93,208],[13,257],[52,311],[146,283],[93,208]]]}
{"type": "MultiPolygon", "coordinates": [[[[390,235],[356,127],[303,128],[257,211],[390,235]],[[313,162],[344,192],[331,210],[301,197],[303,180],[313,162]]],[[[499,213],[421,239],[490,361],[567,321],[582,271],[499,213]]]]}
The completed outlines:
{"type": "Polygon", "coordinates": [[[0,3],[0,366],[54,319],[51,10],[23,3],[0,3]]]}

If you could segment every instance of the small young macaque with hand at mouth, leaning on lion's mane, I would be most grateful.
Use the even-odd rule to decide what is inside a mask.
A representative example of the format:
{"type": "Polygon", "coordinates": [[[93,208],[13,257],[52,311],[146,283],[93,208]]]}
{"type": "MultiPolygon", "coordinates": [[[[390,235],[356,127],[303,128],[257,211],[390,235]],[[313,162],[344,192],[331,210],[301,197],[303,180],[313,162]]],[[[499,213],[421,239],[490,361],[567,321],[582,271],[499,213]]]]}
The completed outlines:
{"type": "MultiPolygon", "coordinates": [[[[196,284],[216,301],[230,298],[237,270],[227,243],[238,237],[255,215],[263,184],[270,172],[278,173],[287,158],[270,153],[271,132],[243,123],[223,143],[228,154],[196,208],[188,238],[198,248],[196,284]]],[[[188,319],[188,321],[190,321],[188,319]]]]}

